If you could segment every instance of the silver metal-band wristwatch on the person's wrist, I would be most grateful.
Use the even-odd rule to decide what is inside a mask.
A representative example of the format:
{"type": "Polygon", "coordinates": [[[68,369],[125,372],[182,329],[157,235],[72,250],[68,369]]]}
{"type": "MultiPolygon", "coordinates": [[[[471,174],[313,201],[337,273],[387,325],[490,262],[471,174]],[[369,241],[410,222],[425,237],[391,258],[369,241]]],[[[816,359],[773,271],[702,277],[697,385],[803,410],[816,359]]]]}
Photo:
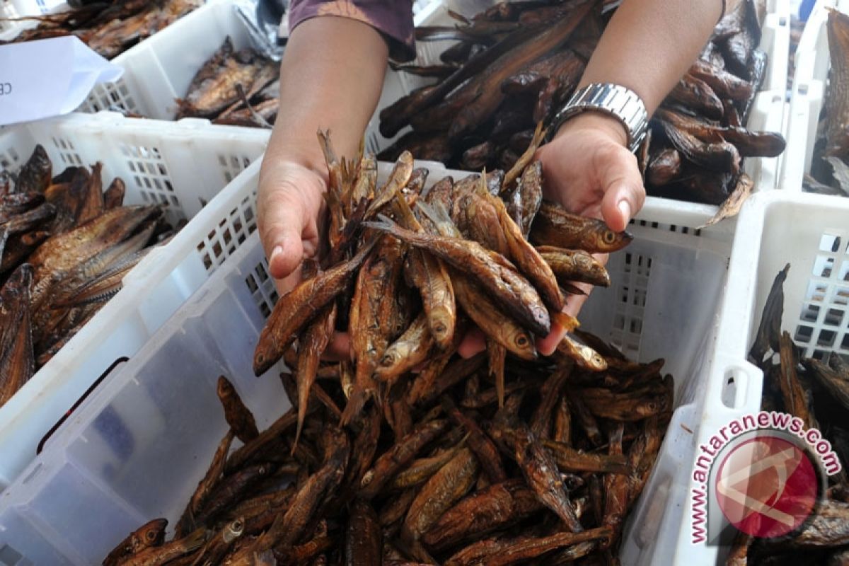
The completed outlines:
{"type": "Polygon", "coordinates": [[[551,126],[548,137],[554,137],[565,120],[586,110],[595,110],[613,116],[621,121],[628,132],[628,149],[636,152],[643,143],[646,130],[649,129],[649,115],[643,99],[630,88],[605,82],[593,82],[576,90],[569,102],[561,109],[551,126]]]}

